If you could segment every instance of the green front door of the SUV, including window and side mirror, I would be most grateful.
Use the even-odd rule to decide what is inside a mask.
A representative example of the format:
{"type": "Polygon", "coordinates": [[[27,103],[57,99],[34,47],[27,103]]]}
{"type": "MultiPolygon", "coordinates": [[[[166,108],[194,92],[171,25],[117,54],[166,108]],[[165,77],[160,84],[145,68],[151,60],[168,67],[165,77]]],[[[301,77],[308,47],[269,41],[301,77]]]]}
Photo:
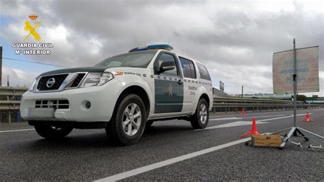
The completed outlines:
{"type": "Polygon", "coordinates": [[[154,114],[182,111],[183,78],[173,53],[162,51],[154,61],[154,94],[154,114]]]}

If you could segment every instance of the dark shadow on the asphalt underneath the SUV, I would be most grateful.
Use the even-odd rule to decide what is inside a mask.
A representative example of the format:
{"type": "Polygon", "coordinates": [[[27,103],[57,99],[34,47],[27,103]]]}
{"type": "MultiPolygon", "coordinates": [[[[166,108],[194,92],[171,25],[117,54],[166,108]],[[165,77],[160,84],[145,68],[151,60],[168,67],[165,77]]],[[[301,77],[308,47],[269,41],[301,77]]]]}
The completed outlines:
{"type": "MultiPolygon", "coordinates": [[[[153,124],[154,125],[154,124],[153,124]]],[[[81,131],[81,130],[79,130],[81,131]]],[[[186,125],[156,125],[146,127],[141,140],[137,144],[131,146],[121,146],[107,138],[105,131],[98,131],[93,133],[82,134],[79,131],[72,133],[65,138],[60,139],[46,139],[39,138],[36,140],[29,140],[24,143],[25,148],[33,151],[39,150],[69,150],[72,148],[137,148],[151,142],[152,140],[163,140],[165,135],[183,135],[183,133],[192,131],[192,127],[186,125]]]]}

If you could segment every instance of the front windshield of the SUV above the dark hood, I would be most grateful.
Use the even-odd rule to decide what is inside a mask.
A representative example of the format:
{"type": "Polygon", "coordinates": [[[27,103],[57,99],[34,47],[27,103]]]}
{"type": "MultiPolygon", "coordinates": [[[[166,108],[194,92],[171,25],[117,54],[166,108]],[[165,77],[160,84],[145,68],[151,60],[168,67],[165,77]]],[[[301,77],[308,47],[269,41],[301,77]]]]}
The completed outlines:
{"type": "Polygon", "coordinates": [[[109,57],[102,62],[96,64],[96,66],[103,66],[108,68],[116,67],[135,67],[146,68],[150,64],[153,56],[157,53],[156,50],[152,51],[137,51],[133,53],[125,53],[109,57]]]}

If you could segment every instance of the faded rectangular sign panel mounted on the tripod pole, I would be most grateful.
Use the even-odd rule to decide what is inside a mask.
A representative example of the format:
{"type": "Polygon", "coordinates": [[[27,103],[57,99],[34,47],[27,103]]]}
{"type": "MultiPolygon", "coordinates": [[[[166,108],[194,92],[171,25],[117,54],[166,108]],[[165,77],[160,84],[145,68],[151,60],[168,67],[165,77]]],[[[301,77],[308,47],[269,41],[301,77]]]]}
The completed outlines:
{"type": "MultiPolygon", "coordinates": [[[[294,51],[273,53],[273,93],[293,92],[294,51]]],[[[319,46],[296,49],[297,92],[319,92],[319,46]]]]}

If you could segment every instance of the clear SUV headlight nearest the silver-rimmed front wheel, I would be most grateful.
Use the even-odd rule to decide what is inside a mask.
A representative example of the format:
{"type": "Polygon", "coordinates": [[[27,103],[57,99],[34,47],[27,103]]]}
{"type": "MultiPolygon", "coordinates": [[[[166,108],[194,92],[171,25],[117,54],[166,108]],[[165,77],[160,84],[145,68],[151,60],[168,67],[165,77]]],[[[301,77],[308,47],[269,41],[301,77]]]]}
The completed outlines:
{"type": "Polygon", "coordinates": [[[102,86],[107,83],[109,80],[113,79],[113,74],[104,72],[104,73],[88,73],[85,79],[83,79],[79,88],[91,87],[91,86],[102,86]]]}

